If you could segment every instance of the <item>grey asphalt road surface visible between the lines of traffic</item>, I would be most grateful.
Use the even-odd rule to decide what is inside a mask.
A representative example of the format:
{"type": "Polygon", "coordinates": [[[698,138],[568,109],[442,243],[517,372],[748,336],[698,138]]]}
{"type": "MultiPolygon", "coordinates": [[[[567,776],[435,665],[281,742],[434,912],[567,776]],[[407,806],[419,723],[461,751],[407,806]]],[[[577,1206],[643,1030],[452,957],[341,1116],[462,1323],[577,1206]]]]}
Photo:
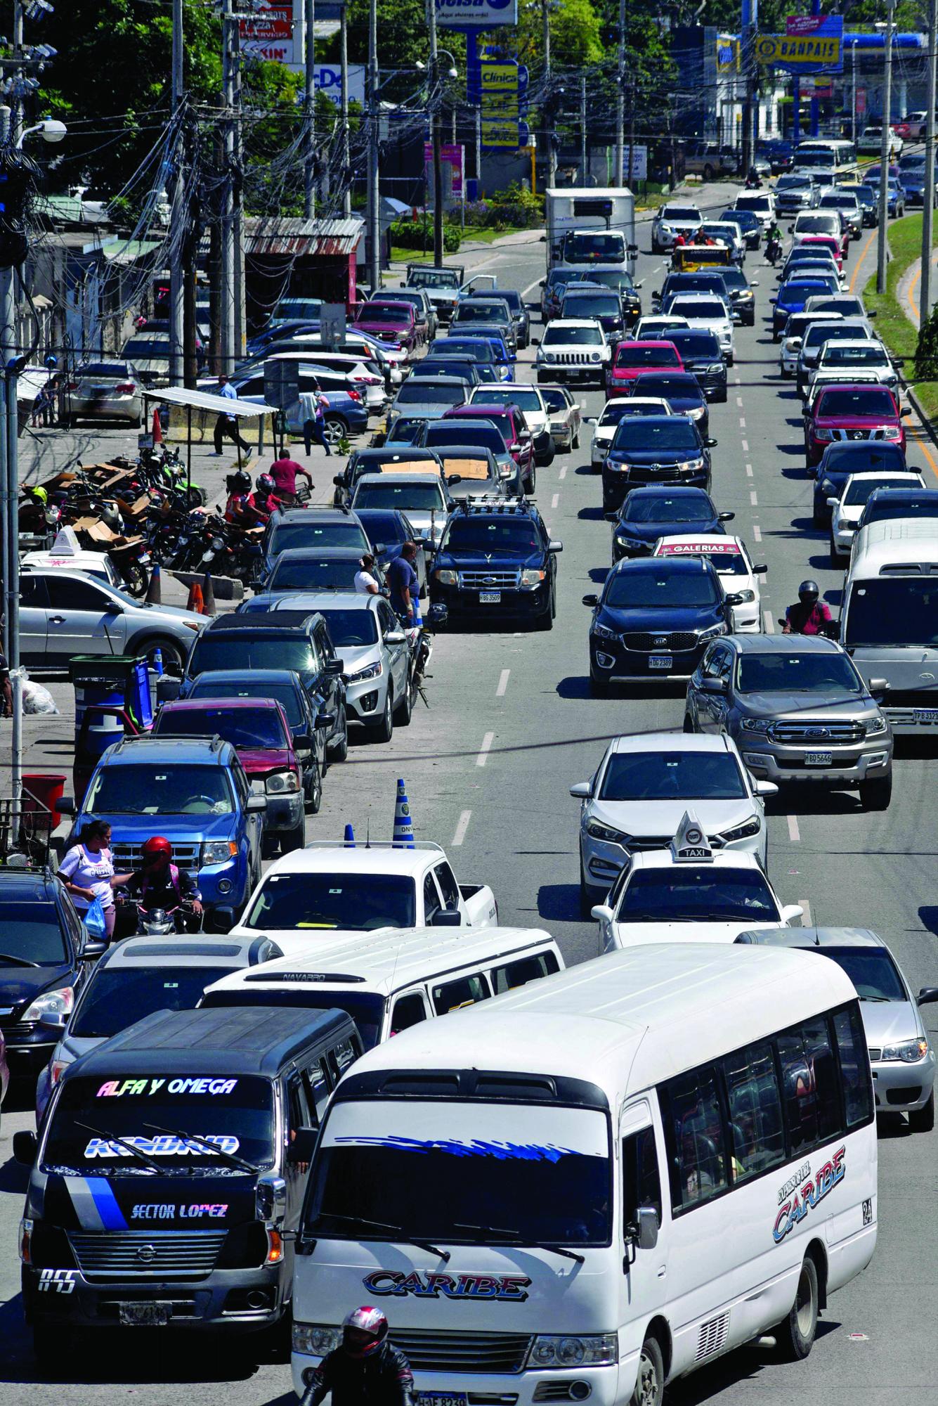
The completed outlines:
{"type": "MultiPolygon", "coordinates": [[[[704,191],[701,204],[722,208],[722,198],[704,191]]],[[[663,274],[661,257],[647,253],[647,224],[639,245],[647,308],[663,274]]],[[[854,291],[862,291],[871,254],[864,233],[850,262],[854,291]]],[[[465,262],[536,299],[542,243],[489,249],[465,262]]],[[[758,316],[754,329],[737,329],[729,401],[712,409],[711,433],[719,440],[713,496],[736,510],[733,530],[768,562],[762,605],[772,620],[807,574],[837,605],[840,574],[830,569],[826,536],[810,524],[799,402],[778,378],[778,349],[764,322],[774,277],[755,254],[747,270],[760,278],[758,316]]],[[[595,415],[602,398],[587,392],[584,404],[595,415]]],[[[938,474],[934,450],[921,443],[920,430],[913,436],[910,460],[928,477],[938,474]]],[[[322,814],[310,818],[308,831],[310,838],[341,835],[343,824],[352,821],[359,835],[371,828],[372,837],[389,838],[395,780],[403,776],[417,835],[447,846],[461,880],[490,883],[504,922],[548,928],[567,962],[577,962],[595,955],[597,934],[579,918],[577,803],[569,786],[591,775],[607,738],[680,727],[682,695],[623,690],[590,697],[588,612],[580,598],[605,575],[611,529],[600,512],[598,477],[590,471],[588,434],[579,453],[538,471],[536,496],[552,536],[563,540],[553,631],[438,638],[430,709],[420,706],[389,745],[354,745],[348,762],[331,770],[322,814]]],[[[885,814],[864,814],[852,793],[809,790],[769,803],[769,875],[781,900],[805,904],[816,922],[876,929],[914,988],[938,984],[937,770],[934,756],[900,747],[885,814]]],[[[934,1010],[925,1008],[932,1028],[934,1010]]],[[[192,1399],[205,1406],[292,1402],[284,1362],[243,1367],[230,1350],[191,1339],[93,1346],[80,1371],[66,1365],[55,1384],[37,1379],[21,1326],[15,1258],[25,1174],[10,1160],[11,1133],[29,1125],[28,1112],[4,1112],[0,1137],[0,1381],[8,1384],[8,1399],[28,1392],[35,1403],[86,1406],[93,1392],[95,1406],[115,1406],[128,1395],[159,1406],[188,1406],[192,1399]]],[[[671,1386],[674,1406],[788,1406],[795,1396],[834,1406],[934,1400],[937,1152],[938,1133],[910,1136],[901,1119],[883,1119],[876,1257],[833,1298],[807,1362],[779,1367],[768,1354],[739,1351],[671,1386]]]]}

